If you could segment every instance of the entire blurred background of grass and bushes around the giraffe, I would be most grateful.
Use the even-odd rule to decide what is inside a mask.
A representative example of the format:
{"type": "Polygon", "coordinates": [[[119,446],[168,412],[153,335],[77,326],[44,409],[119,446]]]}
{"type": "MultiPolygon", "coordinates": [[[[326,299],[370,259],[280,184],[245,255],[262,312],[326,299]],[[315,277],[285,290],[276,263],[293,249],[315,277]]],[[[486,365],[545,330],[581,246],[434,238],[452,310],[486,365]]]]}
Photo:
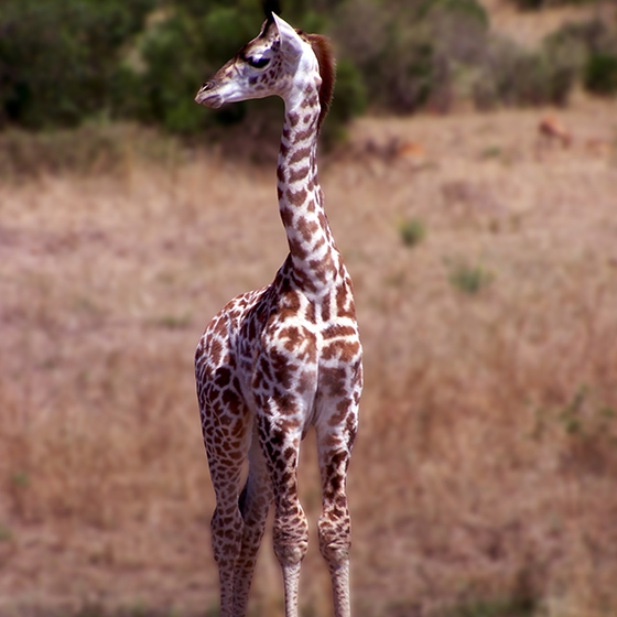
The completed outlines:
{"type": "MultiPolygon", "coordinates": [[[[617,3],[299,0],[366,386],[357,617],[617,615],[617,3]]],[[[286,255],[257,0],[0,4],[0,616],[218,614],[193,355],[286,255]]],[[[301,614],[329,615],[320,481],[301,614]]],[[[251,615],[282,615],[268,533],[251,615]]]]}

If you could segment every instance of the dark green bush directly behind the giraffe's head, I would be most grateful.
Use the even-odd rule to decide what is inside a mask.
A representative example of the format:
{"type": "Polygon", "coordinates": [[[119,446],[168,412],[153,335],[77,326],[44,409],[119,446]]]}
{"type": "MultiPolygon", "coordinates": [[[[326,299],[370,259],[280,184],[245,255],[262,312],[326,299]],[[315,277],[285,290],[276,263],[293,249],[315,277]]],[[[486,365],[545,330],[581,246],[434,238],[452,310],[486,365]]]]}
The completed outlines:
{"type": "MultiPolygon", "coordinates": [[[[294,24],[307,31],[324,28],[325,20],[304,10],[302,3],[294,4],[293,12],[296,13],[294,24]]],[[[201,84],[256,36],[262,19],[259,3],[247,0],[171,3],[140,43],[144,68],[139,77],[143,93],[143,105],[137,110],[139,119],[180,133],[243,120],[280,132],[280,118],[275,123],[271,120],[273,110],[279,109],[275,102],[239,102],[206,113],[193,100],[201,84]]],[[[361,112],[365,104],[357,68],[342,59],[331,118],[325,125],[326,139],[336,140],[340,128],[361,112]]]]}

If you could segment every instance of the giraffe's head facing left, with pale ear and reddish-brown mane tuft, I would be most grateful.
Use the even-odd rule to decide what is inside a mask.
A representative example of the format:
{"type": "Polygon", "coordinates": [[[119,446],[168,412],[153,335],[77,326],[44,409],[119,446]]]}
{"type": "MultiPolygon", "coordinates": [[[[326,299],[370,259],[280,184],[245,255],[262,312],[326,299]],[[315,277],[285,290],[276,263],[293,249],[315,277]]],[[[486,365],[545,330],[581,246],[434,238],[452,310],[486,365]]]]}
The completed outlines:
{"type": "Polygon", "coordinates": [[[280,96],[285,102],[318,88],[320,123],[334,89],[334,56],[327,39],[305,34],[271,13],[259,35],[247,43],[197,93],[195,101],[218,108],[226,102],[280,96]]]}

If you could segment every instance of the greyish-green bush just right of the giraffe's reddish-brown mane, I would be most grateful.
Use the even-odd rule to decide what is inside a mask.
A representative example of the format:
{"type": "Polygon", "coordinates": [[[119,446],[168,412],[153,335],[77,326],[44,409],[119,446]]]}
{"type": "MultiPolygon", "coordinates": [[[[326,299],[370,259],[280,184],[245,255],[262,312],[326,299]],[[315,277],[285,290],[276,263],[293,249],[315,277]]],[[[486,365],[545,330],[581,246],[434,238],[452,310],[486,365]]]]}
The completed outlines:
{"type": "Polygon", "coordinates": [[[342,4],[335,23],[369,104],[404,113],[436,99],[447,107],[455,66],[477,57],[488,18],[476,0],[356,0],[342,4]]]}

